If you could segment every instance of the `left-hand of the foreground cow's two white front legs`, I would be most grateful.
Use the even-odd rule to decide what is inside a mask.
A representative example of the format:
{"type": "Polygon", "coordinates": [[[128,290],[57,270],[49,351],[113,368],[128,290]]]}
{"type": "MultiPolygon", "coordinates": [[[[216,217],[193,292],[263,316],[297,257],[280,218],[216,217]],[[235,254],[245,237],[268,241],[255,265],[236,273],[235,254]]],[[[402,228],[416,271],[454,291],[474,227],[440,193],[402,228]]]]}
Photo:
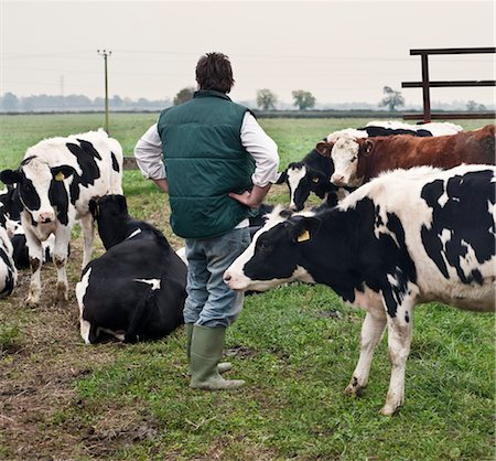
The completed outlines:
{"type": "Polygon", "coordinates": [[[386,326],[386,314],[382,312],[367,312],[367,317],[362,325],[360,335],[360,357],[353,372],[353,377],[345,394],[352,396],[360,396],[367,385],[368,374],[374,356],[374,351],[382,337],[386,326]]]}

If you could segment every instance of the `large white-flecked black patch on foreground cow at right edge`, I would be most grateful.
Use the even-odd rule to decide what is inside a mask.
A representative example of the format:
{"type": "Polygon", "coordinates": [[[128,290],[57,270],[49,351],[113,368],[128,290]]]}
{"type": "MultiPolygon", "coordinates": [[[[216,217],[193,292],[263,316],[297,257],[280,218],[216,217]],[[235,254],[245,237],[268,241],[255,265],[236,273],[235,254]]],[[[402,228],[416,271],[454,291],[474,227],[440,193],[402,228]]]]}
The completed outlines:
{"type": "Polygon", "coordinates": [[[422,244],[429,257],[448,279],[448,266],[455,268],[460,281],[465,285],[483,283],[481,271],[474,267],[465,274],[461,267],[470,246],[476,265],[488,261],[495,254],[495,224],[488,205],[495,203],[493,171],[470,172],[450,178],[446,184],[436,180],[425,184],[421,196],[432,208],[432,224],[422,226],[422,244]],[[439,204],[446,193],[448,201],[439,204]],[[443,244],[441,236],[446,230],[449,239],[443,244]]]}

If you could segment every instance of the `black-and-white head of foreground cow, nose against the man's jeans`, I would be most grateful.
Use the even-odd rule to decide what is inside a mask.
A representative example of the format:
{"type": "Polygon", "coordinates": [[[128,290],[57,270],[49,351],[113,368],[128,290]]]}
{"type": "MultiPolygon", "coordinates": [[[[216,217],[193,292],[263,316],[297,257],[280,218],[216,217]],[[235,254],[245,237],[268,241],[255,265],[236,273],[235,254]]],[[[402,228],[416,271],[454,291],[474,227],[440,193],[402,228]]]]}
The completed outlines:
{"type": "Polygon", "coordinates": [[[281,283],[312,277],[299,265],[299,254],[320,227],[312,216],[284,217],[276,208],[249,247],[225,271],[224,281],[237,291],[265,291],[281,283]]]}

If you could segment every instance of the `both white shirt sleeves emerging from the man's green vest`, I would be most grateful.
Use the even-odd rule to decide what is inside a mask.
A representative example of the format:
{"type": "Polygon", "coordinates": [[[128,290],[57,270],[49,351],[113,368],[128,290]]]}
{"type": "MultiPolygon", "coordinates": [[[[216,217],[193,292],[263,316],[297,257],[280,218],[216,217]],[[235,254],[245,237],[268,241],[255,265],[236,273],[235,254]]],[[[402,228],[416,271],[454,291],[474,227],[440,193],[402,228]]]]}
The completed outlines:
{"type": "MultiPolygon", "coordinates": [[[[240,138],[242,147],[255,160],[251,182],[260,187],[274,183],[279,176],[278,146],[248,111],[242,119],[240,138]]],[[[152,125],[136,144],[134,158],[144,178],[151,180],[166,178],[162,160],[162,141],[157,124],[152,125]]]]}

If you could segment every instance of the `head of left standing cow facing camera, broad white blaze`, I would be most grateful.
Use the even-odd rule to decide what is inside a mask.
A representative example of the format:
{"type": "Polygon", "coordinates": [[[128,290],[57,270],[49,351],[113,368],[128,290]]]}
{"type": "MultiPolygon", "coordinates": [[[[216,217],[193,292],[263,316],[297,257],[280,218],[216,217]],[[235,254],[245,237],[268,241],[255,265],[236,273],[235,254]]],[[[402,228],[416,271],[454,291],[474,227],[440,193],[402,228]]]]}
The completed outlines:
{"type": "Polygon", "coordinates": [[[64,187],[64,180],[75,173],[69,165],[50,167],[36,157],[24,159],[18,170],[3,170],[0,180],[17,185],[19,199],[34,223],[55,221],[56,211],[51,199],[57,187],[64,187]]]}

